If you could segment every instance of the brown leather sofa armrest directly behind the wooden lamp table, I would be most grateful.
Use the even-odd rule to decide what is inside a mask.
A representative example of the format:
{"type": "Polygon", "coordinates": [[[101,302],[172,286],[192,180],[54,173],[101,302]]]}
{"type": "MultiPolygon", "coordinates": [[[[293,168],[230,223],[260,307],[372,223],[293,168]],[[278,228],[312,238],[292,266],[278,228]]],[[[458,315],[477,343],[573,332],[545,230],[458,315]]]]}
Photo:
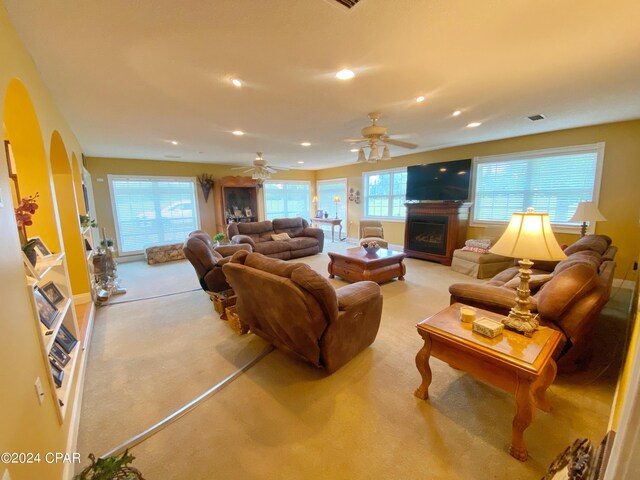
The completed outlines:
{"type": "MultiPolygon", "coordinates": [[[[508,314],[511,307],[515,306],[517,296],[517,292],[511,288],[475,283],[454,283],[449,286],[449,293],[451,294],[451,303],[464,303],[503,315],[508,314]]],[[[529,302],[529,309],[536,312],[538,310],[537,299],[529,297],[529,302]]]]}

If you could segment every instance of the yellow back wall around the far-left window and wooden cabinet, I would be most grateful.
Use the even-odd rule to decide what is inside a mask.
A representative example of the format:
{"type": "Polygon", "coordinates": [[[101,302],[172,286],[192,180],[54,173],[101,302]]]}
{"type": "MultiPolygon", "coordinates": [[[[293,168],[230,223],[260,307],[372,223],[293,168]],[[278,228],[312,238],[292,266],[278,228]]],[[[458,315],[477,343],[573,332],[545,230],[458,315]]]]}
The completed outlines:
{"type": "MultiPolygon", "coordinates": [[[[133,160],[125,158],[87,158],[87,170],[91,173],[93,184],[93,198],[96,203],[95,218],[98,221],[100,234],[102,228],[106,229],[107,237],[116,238],[114,217],[112,211],[111,195],[109,192],[109,180],[107,175],[154,175],[171,177],[197,177],[203,173],[212,175],[215,179],[230,175],[242,175],[242,170],[231,170],[225,165],[212,165],[206,163],[167,162],[161,160],[133,160]]],[[[308,180],[315,182],[315,172],[308,170],[290,170],[274,174],[273,180],[308,180]]],[[[198,209],[200,211],[200,228],[213,235],[216,232],[215,202],[213,190],[209,194],[207,202],[204,201],[202,190],[197,185],[198,209]]],[[[264,205],[262,190],[258,191],[258,203],[262,214],[264,205]]],[[[226,233],[226,232],[223,232],[226,233]]]]}

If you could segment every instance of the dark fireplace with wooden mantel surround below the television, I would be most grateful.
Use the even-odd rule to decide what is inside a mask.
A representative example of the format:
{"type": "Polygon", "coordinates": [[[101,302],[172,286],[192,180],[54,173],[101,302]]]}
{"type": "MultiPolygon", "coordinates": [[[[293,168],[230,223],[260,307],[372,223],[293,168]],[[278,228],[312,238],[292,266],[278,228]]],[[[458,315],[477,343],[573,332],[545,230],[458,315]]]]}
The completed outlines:
{"type": "Polygon", "coordinates": [[[469,204],[430,202],[405,206],[404,252],[407,256],[451,265],[453,251],[466,239],[469,204]]]}

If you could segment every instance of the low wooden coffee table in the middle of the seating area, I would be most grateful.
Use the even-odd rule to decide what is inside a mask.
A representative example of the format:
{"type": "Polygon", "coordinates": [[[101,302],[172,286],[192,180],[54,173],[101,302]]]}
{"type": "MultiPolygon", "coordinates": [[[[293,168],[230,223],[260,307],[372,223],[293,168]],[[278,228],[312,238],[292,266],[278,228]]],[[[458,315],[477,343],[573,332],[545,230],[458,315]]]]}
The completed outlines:
{"type": "Polygon", "coordinates": [[[407,271],[402,260],[406,255],[381,248],[375,254],[368,254],[362,247],[347,248],[344,253],[329,252],[329,278],[342,277],[350,282],[371,280],[376,283],[388,282],[396,277],[404,280],[407,271]]]}

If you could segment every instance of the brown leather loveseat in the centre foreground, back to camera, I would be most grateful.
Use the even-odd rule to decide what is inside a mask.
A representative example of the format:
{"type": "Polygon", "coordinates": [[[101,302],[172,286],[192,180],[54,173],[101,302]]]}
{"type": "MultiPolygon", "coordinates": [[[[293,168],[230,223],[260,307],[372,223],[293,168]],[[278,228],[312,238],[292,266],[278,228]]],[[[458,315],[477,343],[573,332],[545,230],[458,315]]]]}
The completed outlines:
{"type": "Polygon", "coordinates": [[[382,295],[374,282],[334,289],[306,264],[248,252],[234,254],[222,270],[253,333],[328,373],[376,338],[382,295]]]}

